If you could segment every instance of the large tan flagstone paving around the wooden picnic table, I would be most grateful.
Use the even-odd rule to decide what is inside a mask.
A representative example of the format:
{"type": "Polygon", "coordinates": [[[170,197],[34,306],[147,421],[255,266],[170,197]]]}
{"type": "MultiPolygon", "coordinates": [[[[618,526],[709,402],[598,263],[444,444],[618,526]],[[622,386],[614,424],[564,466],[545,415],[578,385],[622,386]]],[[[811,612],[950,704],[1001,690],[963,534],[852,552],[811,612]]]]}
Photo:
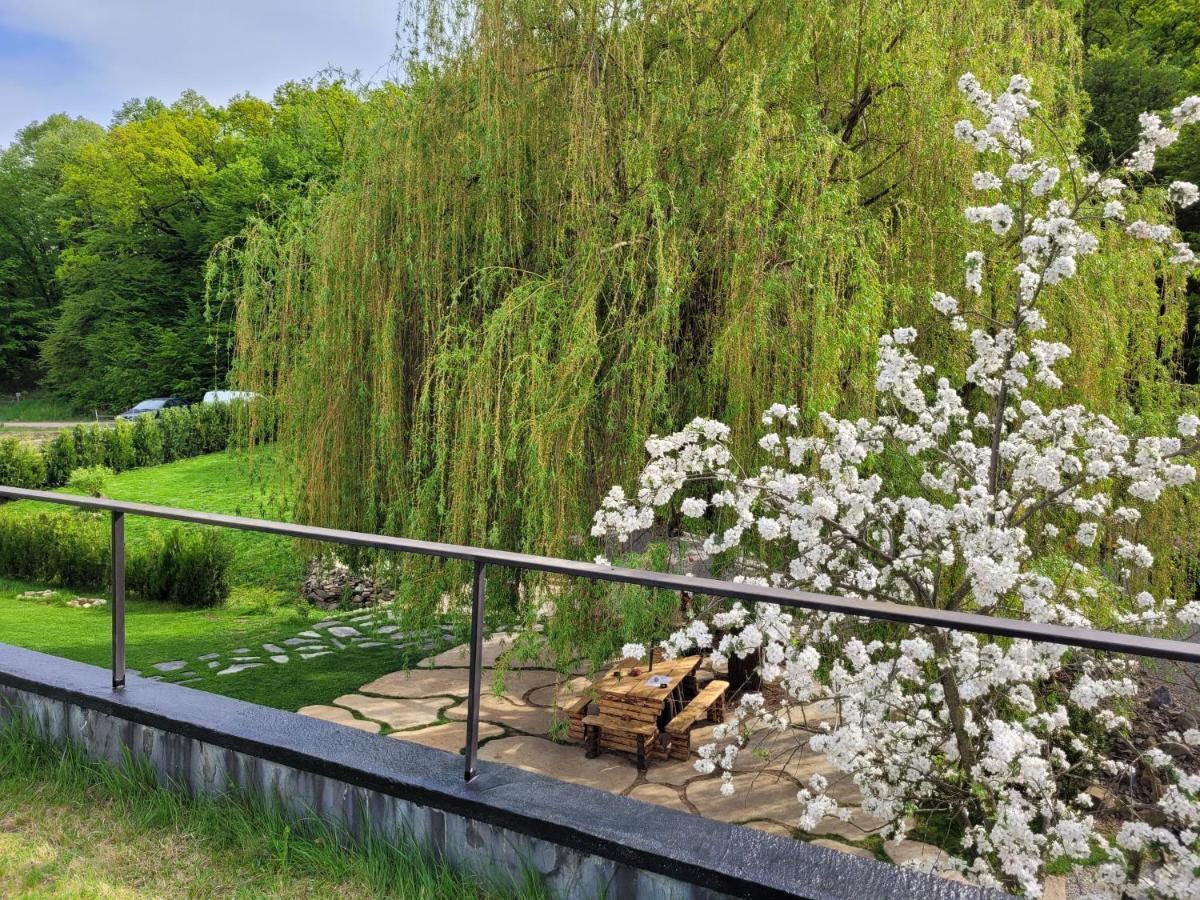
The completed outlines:
{"type": "MultiPolygon", "coordinates": [[[[353,622],[353,620],[352,620],[353,622]]],[[[337,622],[318,623],[313,631],[332,631],[337,622]]],[[[366,630],[366,623],[355,628],[366,630]]],[[[403,637],[404,632],[376,626],[377,640],[403,637]]],[[[288,641],[284,646],[290,646],[288,641]]],[[[324,646],[324,644],[323,644],[324,646]]],[[[538,772],[563,781],[620,793],[635,799],[710,818],[745,824],[784,836],[811,840],[822,847],[876,857],[863,846],[864,839],[878,833],[883,822],[859,809],[858,788],[836,772],[822,754],[806,749],[804,731],[770,734],[755,745],[758,752],[739,754],[733,775],[734,793],[724,796],[721,781],[702,775],[692,760],[652,760],[648,772],[638,774],[632,760],[622,754],[605,752],[588,760],[577,744],[551,739],[565,734],[560,708],[580,697],[590,686],[578,673],[564,676],[553,670],[548,654],[533,660],[508,659],[514,647],[509,634],[497,634],[484,642],[484,689],[480,697],[481,760],[503,762],[528,772],[538,772]],[[500,676],[497,677],[497,664],[500,676]],[[497,694],[496,689],[500,688],[497,694]],[[829,793],[850,810],[847,820],[827,817],[811,834],[797,828],[800,808],[796,794],[808,780],[823,775],[829,793]]],[[[264,648],[276,649],[276,648],[264,648]]],[[[307,648],[306,648],[307,649],[307,648]]],[[[331,652],[331,650],[325,650],[331,652]]],[[[413,671],[392,672],[377,678],[358,694],[338,697],[332,706],[306,707],[300,712],[365,731],[379,731],[389,738],[410,740],[449,752],[462,752],[466,744],[467,644],[422,659],[413,671]]],[[[835,709],[814,703],[800,712],[809,728],[832,719],[835,709]]],[[[691,746],[712,740],[713,726],[692,731],[691,746]]],[[[876,841],[875,846],[878,846],[876,841]]],[[[943,877],[956,877],[947,869],[946,854],[918,841],[889,842],[886,857],[896,863],[917,865],[943,877]]]]}

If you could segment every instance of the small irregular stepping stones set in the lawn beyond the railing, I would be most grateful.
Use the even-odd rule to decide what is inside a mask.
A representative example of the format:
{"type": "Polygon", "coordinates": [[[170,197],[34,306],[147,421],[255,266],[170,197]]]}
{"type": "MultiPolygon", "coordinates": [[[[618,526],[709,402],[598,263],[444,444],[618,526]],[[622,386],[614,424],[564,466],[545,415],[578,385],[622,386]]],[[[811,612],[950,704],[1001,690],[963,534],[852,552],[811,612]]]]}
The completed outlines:
{"type": "MultiPolygon", "coordinates": [[[[56,592],[36,592],[38,599],[53,596],[56,592]]],[[[30,599],[35,599],[31,592],[30,599]]],[[[103,604],[104,601],[98,601],[103,604]]],[[[370,614],[356,612],[354,618],[330,618],[318,622],[299,634],[276,638],[275,642],[263,643],[258,647],[238,647],[223,653],[205,653],[196,658],[194,662],[187,660],[166,660],[151,666],[156,672],[169,676],[168,680],[181,683],[181,679],[197,680],[197,674],[191,670],[200,670],[208,674],[221,677],[238,676],[253,668],[263,666],[286,666],[292,662],[302,664],[311,659],[329,656],[334,653],[348,653],[356,649],[378,650],[394,648],[407,650],[419,643],[430,648],[445,646],[452,638],[455,629],[450,625],[440,625],[419,630],[404,630],[396,624],[395,613],[385,607],[380,607],[370,614]],[[347,622],[354,623],[347,624],[347,622]],[[338,640],[342,638],[342,640],[338,640]],[[215,670],[215,671],[214,671],[215,670]]],[[[154,676],[161,678],[162,676],[154,676]]],[[[448,701],[445,706],[450,706],[448,701]]],[[[343,710],[344,712],[344,710],[343,710]]],[[[352,716],[353,718],[353,716],[352,716]]],[[[344,724],[337,719],[338,724],[344,724]]],[[[358,720],[355,720],[358,721],[358,720]]],[[[376,726],[378,730],[378,726],[376,726]]]]}

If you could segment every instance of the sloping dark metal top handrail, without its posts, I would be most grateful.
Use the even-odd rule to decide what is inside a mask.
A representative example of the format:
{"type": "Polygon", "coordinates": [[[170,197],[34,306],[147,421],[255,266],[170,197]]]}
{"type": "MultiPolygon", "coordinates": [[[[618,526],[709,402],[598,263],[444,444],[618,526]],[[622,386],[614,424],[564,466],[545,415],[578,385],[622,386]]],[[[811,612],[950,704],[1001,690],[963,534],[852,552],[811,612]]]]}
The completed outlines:
{"type": "Polygon", "coordinates": [[[1112,653],[1128,653],[1139,656],[1175,660],[1180,662],[1200,662],[1200,644],[1163,637],[1127,635],[1117,631],[1102,631],[1073,625],[1055,625],[1022,619],[1007,619],[984,613],[958,612],[949,610],[908,606],[882,600],[858,600],[830,594],[817,594],[787,588],[743,584],[719,578],[697,578],[688,575],[653,572],[644,569],[623,569],[619,566],[584,563],[574,559],[517,553],[506,550],[487,550],[460,544],[416,540],[413,538],[394,538],[384,534],[349,532],[338,528],[290,524],[264,518],[228,516],[218,512],[197,512],[194,510],[156,506],[146,503],[128,503],[102,497],[80,497],[52,491],[32,491],[22,487],[0,485],[0,497],[22,500],[58,503],[79,509],[106,512],[118,512],[152,518],[167,518],[192,524],[234,528],[244,532],[262,532],[278,534],[301,540],[313,540],[347,546],[374,547],[402,553],[460,559],[476,565],[490,564],[511,569],[568,575],[608,581],[624,584],[640,584],[664,590],[688,592],[707,596],[722,596],[750,602],[769,602],[800,610],[835,612],[869,619],[883,619],[930,628],[958,629],[997,637],[1016,637],[1067,647],[1081,647],[1112,653]]]}

